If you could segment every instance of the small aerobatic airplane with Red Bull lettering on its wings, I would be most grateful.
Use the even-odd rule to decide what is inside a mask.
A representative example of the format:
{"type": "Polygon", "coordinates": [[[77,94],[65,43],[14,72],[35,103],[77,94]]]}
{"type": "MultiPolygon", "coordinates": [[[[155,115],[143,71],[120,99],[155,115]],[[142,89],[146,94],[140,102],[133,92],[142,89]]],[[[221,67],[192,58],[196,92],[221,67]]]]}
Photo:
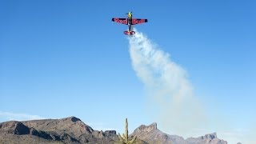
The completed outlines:
{"type": "Polygon", "coordinates": [[[133,31],[131,29],[132,25],[137,25],[137,24],[141,24],[144,22],[147,22],[147,19],[142,19],[142,18],[133,18],[133,14],[131,14],[132,12],[130,11],[127,15],[128,18],[112,18],[113,22],[118,22],[124,25],[128,25],[128,30],[124,31],[124,34],[127,35],[133,35],[135,34],[135,31],[133,31]]]}

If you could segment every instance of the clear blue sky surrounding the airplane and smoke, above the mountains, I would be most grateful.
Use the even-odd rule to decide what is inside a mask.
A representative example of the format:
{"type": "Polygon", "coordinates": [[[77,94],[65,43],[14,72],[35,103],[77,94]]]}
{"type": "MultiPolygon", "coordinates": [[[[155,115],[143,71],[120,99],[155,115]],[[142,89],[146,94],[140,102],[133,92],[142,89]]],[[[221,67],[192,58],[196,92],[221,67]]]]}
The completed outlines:
{"type": "Polygon", "coordinates": [[[130,130],[154,122],[131,66],[126,26],[110,21],[132,10],[149,20],[137,30],[187,71],[207,117],[229,123],[230,131],[250,131],[256,126],[255,6],[236,0],[1,1],[0,121],[9,113],[74,115],[116,130],[126,117],[130,130]]]}

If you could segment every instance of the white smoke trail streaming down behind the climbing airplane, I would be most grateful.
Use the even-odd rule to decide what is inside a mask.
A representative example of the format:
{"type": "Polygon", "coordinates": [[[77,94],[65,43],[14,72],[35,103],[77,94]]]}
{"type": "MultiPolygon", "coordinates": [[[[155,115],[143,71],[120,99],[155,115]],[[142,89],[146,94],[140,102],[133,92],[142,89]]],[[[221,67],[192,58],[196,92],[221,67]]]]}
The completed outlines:
{"type": "Polygon", "coordinates": [[[155,111],[157,120],[166,130],[183,136],[198,128],[204,121],[202,110],[186,70],[142,33],[136,31],[129,42],[133,69],[146,86],[149,107],[155,111]]]}

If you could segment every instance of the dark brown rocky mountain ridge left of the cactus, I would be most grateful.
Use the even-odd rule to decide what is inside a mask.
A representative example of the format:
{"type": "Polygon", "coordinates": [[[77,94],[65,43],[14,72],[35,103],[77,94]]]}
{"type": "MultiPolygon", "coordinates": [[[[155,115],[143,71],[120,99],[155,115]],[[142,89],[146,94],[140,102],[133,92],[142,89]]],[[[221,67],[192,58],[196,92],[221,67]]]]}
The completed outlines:
{"type": "Polygon", "coordinates": [[[0,143],[114,143],[115,130],[98,131],[79,118],[0,123],[0,143]]]}

